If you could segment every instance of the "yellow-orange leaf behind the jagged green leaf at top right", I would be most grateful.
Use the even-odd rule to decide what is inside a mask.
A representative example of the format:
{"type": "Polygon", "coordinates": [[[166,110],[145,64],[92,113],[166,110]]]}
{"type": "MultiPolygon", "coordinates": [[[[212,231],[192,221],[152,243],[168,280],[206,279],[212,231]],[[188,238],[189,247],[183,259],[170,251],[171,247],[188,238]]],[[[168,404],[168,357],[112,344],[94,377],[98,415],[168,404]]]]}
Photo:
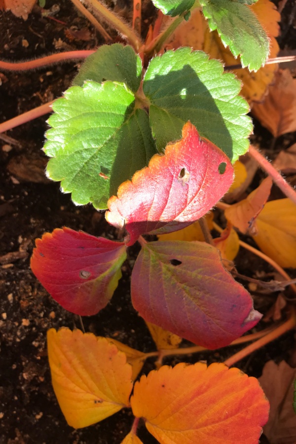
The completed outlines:
{"type": "MultiPolygon", "coordinates": [[[[279,51],[275,39],[279,35],[280,14],[271,0],[259,0],[250,6],[257,15],[259,22],[267,33],[270,41],[269,57],[276,57],[279,51]]],[[[238,65],[239,57],[235,59],[228,48],[224,48],[217,31],[210,32],[207,21],[201,11],[192,11],[188,22],[184,22],[177,28],[168,47],[177,49],[180,46],[191,46],[193,49],[201,49],[210,54],[213,59],[222,60],[226,66],[238,65]]],[[[272,82],[274,73],[278,69],[277,64],[265,65],[257,73],[250,73],[247,68],[233,70],[236,76],[242,80],[241,94],[248,100],[261,101],[266,93],[267,86],[272,82]]]]}

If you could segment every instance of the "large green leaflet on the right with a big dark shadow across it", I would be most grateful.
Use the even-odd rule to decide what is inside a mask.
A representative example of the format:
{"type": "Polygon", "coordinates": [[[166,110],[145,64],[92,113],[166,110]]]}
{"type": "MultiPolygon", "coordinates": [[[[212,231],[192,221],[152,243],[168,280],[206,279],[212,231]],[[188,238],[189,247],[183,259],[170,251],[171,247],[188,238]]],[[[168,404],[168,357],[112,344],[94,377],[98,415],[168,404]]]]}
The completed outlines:
{"type": "Polygon", "coordinates": [[[180,48],[151,60],[143,85],[150,101],[150,125],[159,151],[181,139],[185,122],[221,148],[232,162],[249,148],[252,122],[240,82],[224,74],[202,51],[180,48]]]}

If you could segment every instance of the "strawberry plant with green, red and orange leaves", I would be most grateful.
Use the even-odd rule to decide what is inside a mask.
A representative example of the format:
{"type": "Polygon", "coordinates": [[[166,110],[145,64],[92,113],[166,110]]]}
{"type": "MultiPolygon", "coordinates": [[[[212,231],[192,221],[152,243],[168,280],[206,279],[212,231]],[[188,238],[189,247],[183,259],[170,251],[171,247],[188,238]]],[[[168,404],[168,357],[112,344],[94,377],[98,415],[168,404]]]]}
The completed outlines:
{"type": "MultiPolygon", "coordinates": [[[[175,18],[153,35],[155,24],[143,42],[135,32],[139,8],[132,29],[100,2],[91,2],[129,44],[102,45],[87,57],[73,85],[52,106],[44,145],[50,157],[47,176],[61,181],[75,204],[107,210],[107,221],[125,237],[115,242],[57,228],[37,239],[31,267],[64,308],[94,315],[110,301],[127,249],[139,242],[131,276],[134,308],[164,335],[213,350],[233,343],[261,318],[249,292],[225,268],[220,244],[233,232],[232,225],[241,232],[254,226],[271,179],[239,203],[243,220],[237,207],[219,203],[232,185],[233,163],[249,148],[249,105],[239,95],[240,81],[225,73],[221,62],[191,47],[168,49],[165,42],[198,9],[222,44],[240,56],[241,66],[257,71],[268,57],[268,36],[249,6],[256,1],[153,3],[175,18]],[[215,205],[229,222],[216,242],[204,218],[215,205]],[[207,242],[161,238],[184,232],[196,221],[207,242]]],[[[264,164],[255,151],[256,156],[264,164]]],[[[274,169],[268,173],[278,178],[274,169]]],[[[283,178],[279,183],[295,200],[283,178]]],[[[293,326],[291,316],[281,331],[264,340],[293,326]]],[[[163,349],[157,356],[164,356],[163,349]]],[[[257,380],[223,364],[159,366],[133,385],[147,356],[114,340],[50,330],[48,353],[68,423],[85,427],[131,407],[136,419],[124,444],[140,443],[141,417],[164,444],[256,443],[267,421],[268,402],[257,380]]]]}

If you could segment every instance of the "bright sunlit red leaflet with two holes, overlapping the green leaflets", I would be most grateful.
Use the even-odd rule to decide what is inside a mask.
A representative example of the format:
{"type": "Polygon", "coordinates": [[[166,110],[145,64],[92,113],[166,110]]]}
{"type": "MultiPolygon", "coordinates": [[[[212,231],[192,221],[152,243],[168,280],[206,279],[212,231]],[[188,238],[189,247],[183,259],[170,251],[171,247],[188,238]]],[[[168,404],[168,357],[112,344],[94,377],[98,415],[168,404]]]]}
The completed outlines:
{"type": "Polygon", "coordinates": [[[189,122],[182,135],[166,147],[165,155],[155,154],[148,167],[121,184],[118,197],[109,199],[106,219],[117,228],[125,226],[127,245],[167,224],[166,232],[184,228],[204,216],[231,185],[233,168],[222,150],[201,139],[189,122]],[[223,174],[220,165],[225,166],[223,174]]]}

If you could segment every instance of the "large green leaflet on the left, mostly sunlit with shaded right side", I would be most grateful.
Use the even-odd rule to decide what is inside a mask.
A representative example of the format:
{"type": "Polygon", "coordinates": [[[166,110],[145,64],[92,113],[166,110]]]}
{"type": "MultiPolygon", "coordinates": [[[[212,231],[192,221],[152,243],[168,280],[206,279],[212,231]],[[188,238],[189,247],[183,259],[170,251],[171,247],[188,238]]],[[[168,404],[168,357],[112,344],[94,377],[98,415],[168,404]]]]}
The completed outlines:
{"type": "Polygon", "coordinates": [[[143,168],[155,152],[148,115],[132,112],[133,93],[124,84],[86,82],[57,100],[46,136],[53,157],[48,176],[62,181],[77,204],[107,208],[120,183],[143,168]],[[135,139],[137,134],[137,139],[135,139]]]}

